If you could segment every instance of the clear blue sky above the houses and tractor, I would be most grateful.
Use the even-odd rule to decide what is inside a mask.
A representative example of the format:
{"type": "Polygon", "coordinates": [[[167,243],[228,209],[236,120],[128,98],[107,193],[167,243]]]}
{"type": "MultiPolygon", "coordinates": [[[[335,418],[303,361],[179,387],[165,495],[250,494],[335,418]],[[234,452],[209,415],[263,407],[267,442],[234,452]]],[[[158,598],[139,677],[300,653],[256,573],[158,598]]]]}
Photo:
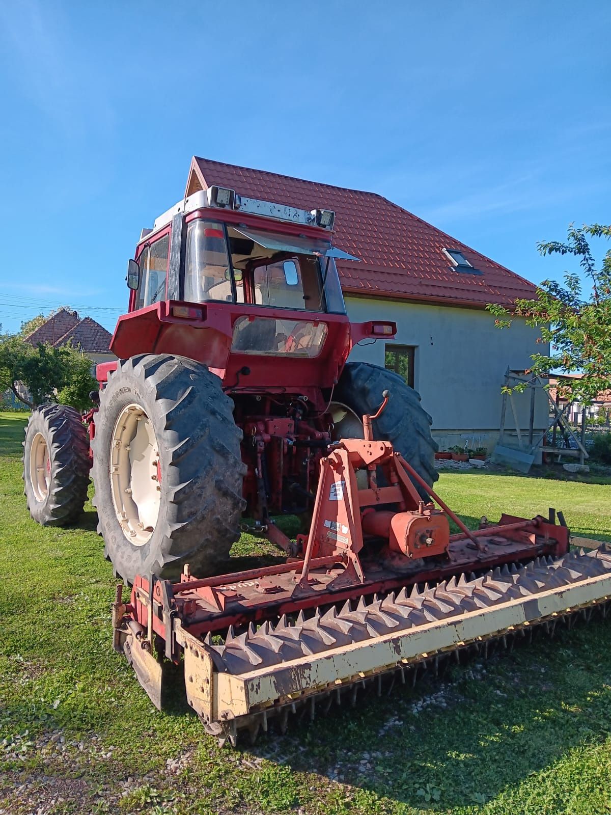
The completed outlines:
{"type": "Polygon", "coordinates": [[[379,192],[561,275],[536,242],[611,222],[610,24],[602,0],[0,0],[3,329],[59,304],[112,329],[194,153],[379,192]]]}

